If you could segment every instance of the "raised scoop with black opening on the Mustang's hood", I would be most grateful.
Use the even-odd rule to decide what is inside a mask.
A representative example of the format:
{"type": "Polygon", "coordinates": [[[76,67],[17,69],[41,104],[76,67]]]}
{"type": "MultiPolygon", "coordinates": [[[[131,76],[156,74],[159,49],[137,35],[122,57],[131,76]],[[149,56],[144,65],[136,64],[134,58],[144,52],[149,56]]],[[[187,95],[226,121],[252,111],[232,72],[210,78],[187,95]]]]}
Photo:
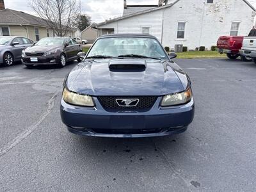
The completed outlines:
{"type": "Polygon", "coordinates": [[[111,60],[108,67],[111,72],[143,72],[147,68],[147,63],[136,60],[111,60]]]}

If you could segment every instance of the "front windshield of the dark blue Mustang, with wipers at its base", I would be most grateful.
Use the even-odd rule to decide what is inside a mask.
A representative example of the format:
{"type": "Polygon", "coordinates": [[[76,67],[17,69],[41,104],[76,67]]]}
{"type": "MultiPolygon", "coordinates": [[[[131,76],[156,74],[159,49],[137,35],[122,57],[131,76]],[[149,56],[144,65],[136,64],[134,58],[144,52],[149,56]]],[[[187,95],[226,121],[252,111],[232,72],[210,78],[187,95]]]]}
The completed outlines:
{"type": "Polygon", "coordinates": [[[87,57],[113,56],[166,59],[163,48],[154,38],[112,37],[101,38],[93,45],[87,57]]]}

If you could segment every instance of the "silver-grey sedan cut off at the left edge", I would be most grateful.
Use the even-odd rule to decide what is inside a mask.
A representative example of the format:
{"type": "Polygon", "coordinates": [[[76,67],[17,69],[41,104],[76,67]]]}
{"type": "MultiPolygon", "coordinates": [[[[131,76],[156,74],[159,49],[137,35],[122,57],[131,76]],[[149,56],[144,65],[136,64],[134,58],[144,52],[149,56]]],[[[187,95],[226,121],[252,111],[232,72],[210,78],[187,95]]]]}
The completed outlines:
{"type": "Polygon", "coordinates": [[[33,41],[22,36],[0,36],[0,65],[12,65],[21,60],[21,52],[33,45],[33,41]]]}

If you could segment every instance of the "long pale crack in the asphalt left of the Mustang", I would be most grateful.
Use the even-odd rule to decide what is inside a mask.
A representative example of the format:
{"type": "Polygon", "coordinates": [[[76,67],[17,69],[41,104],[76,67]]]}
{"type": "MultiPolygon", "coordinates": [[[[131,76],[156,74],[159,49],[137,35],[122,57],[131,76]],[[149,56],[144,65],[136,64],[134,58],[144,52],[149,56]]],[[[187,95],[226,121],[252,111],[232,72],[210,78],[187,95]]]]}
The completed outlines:
{"type": "Polygon", "coordinates": [[[52,112],[54,108],[56,97],[58,96],[60,91],[56,91],[54,95],[52,95],[51,99],[47,101],[47,110],[40,116],[40,118],[31,126],[28,127],[24,132],[19,134],[16,138],[14,138],[10,143],[0,149],[0,157],[4,156],[7,152],[9,152],[13,147],[18,145],[22,140],[27,138],[29,134],[31,134],[35,129],[40,125],[44,119],[52,112]]]}

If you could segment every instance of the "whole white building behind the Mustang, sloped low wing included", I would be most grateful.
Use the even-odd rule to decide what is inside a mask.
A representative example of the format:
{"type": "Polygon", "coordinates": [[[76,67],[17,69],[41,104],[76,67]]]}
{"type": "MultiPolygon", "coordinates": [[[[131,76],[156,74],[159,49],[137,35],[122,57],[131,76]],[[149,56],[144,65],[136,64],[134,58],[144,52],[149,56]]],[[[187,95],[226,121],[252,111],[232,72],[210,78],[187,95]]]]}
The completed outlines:
{"type": "Polygon", "coordinates": [[[97,24],[98,34],[150,33],[170,48],[216,45],[221,35],[248,35],[255,8],[246,0],[159,0],[158,5],[127,5],[122,17],[97,24]]]}

